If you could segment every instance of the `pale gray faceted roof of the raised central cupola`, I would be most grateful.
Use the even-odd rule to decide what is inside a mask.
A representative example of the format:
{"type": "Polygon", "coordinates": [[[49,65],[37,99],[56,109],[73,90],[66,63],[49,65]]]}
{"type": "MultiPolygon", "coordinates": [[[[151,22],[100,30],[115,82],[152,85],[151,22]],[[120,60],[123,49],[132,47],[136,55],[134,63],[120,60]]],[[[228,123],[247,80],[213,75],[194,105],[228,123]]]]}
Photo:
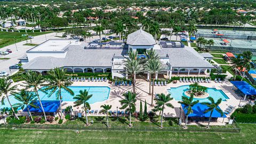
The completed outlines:
{"type": "Polygon", "coordinates": [[[155,45],[155,39],[146,31],[139,29],[127,36],[127,44],[129,45],[155,45]]]}

